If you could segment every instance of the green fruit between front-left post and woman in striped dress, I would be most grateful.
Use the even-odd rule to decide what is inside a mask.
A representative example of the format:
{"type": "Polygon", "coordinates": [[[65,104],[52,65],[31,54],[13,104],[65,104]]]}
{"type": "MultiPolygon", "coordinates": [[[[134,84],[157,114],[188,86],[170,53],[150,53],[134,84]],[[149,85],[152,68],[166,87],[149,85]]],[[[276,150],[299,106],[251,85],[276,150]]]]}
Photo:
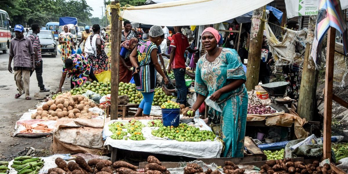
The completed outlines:
{"type": "Polygon", "coordinates": [[[140,104],[140,102],[143,100],[143,95],[141,95],[141,92],[137,91],[135,84],[130,82],[128,84],[120,82],[118,85],[118,95],[128,95],[129,103],[133,104],[140,104]]]}

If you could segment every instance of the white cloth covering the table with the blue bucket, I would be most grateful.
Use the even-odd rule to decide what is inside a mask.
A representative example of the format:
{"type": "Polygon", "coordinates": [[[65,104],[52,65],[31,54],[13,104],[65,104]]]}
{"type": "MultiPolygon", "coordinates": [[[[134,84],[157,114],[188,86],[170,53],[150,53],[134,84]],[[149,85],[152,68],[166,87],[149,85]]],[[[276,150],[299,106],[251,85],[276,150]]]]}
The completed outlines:
{"type": "MultiPolygon", "coordinates": [[[[200,141],[200,142],[180,142],[176,140],[164,140],[159,137],[151,135],[151,130],[156,129],[154,127],[144,127],[142,133],[146,140],[134,141],[134,140],[113,140],[111,139],[112,133],[109,130],[109,125],[113,122],[120,121],[127,123],[128,120],[111,120],[103,129],[104,145],[110,145],[111,147],[126,149],[132,151],[152,152],[165,155],[177,155],[192,158],[219,158],[222,150],[222,143],[218,140],[215,141],[200,141]]],[[[150,120],[139,120],[144,125],[150,120]]],[[[199,125],[202,125],[200,129],[211,130],[208,125],[202,119],[199,119],[199,125]]],[[[130,136],[128,133],[127,136],[130,136]]]]}

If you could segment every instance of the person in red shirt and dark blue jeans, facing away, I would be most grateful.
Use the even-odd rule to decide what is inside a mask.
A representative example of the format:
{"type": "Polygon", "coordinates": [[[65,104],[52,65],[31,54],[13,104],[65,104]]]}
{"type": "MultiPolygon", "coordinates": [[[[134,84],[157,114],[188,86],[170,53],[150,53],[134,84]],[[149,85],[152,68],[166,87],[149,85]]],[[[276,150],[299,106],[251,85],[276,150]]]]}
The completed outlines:
{"type": "Polygon", "coordinates": [[[178,90],[176,102],[186,105],[187,87],[185,84],[186,61],[184,53],[185,50],[194,53],[197,52],[198,49],[194,50],[190,48],[189,41],[187,37],[181,33],[181,29],[182,26],[174,26],[176,34],[172,35],[168,73],[171,73],[171,69],[173,68],[175,85],[178,90]]]}

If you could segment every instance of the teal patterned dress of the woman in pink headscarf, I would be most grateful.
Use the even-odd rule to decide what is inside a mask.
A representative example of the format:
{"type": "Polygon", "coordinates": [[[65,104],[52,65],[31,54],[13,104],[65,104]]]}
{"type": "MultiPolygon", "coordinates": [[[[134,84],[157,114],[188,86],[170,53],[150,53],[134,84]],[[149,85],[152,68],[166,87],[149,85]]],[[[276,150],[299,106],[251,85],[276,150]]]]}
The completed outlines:
{"type": "MultiPolygon", "coordinates": [[[[246,80],[236,50],[223,48],[214,62],[207,61],[205,55],[198,60],[195,89],[199,94],[209,97],[236,79],[246,80]]],[[[225,142],[221,157],[243,157],[248,106],[245,85],[222,94],[216,102],[222,113],[209,107],[208,123],[225,142]]]]}

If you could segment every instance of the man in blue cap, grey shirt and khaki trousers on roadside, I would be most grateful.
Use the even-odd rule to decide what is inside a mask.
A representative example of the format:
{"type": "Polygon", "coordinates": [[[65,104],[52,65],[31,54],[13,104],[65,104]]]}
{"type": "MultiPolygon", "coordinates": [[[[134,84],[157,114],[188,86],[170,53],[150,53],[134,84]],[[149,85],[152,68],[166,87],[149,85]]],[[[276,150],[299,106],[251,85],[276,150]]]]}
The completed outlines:
{"type": "Polygon", "coordinates": [[[30,71],[35,69],[35,52],[31,40],[23,35],[24,27],[15,25],[14,32],[16,37],[11,39],[8,71],[12,73],[11,62],[13,60],[13,70],[18,93],[15,98],[19,98],[25,93],[25,100],[31,100],[29,96],[30,71]]]}

